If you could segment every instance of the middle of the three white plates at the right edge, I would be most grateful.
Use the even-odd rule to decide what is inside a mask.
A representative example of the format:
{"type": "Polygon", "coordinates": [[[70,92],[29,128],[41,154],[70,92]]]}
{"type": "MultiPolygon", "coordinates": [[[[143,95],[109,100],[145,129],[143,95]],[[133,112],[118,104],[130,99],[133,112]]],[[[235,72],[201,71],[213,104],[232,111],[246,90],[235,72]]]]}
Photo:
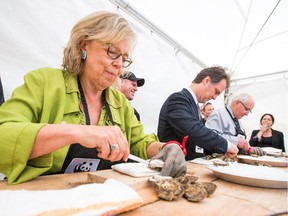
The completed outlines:
{"type": "Polygon", "coordinates": [[[253,157],[250,155],[237,155],[238,162],[256,165],[258,162],[267,164],[274,167],[287,167],[287,157],[274,157],[274,156],[259,156],[253,157]]]}

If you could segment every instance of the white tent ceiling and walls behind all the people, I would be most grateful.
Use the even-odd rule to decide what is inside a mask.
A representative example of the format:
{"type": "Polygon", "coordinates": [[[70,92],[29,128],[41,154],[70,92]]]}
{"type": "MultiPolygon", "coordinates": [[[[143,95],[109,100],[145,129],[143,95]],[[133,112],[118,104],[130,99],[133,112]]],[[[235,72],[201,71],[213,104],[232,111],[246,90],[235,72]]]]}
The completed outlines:
{"type": "MultiPolygon", "coordinates": [[[[253,114],[243,118],[247,133],[258,128],[263,113],[270,112],[275,129],[283,131],[287,140],[287,0],[1,0],[0,76],[5,98],[28,71],[61,66],[63,47],[80,18],[96,10],[117,11],[138,33],[131,70],[146,79],[132,103],[147,132],[156,132],[166,97],[188,86],[202,66],[116,2],[134,8],[207,66],[227,67],[235,72],[234,80],[249,77],[230,89],[232,95],[248,92],[255,97],[253,114]],[[265,76],[268,80],[261,77],[279,71],[277,76],[265,76]]],[[[223,106],[223,95],[214,103],[216,108],[223,106]]]]}

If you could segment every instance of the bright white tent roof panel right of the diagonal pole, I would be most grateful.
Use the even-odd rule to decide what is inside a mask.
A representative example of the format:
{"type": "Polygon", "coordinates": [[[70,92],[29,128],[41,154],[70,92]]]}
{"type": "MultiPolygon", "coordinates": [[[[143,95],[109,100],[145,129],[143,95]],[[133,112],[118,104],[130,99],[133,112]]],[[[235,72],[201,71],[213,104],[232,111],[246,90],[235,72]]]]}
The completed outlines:
{"type": "Polygon", "coordinates": [[[288,70],[287,0],[131,0],[207,65],[233,78],[288,70]]]}

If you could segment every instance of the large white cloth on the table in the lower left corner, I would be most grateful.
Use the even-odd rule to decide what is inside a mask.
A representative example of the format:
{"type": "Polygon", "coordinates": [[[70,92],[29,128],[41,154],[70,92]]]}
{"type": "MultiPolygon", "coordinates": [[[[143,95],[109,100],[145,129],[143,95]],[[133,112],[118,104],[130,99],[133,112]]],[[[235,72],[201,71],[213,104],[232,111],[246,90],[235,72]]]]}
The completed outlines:
{"type": "Polygon", "coordinates": [[[78,215],[79,213],[81,215],[101,215],[117,208],[116,204],[119,205],[119,203],[130,200],[135,200],[135,203],[138,204],[143,202],[131,187],[113,179],[108,179],[101,184],[85,184],[62,190],[1,190],[0,214],[31,216],[57,209],[83,208],[78,215]],[[95,204],[100,205],[97,208],[89,209],[89,212],[85,209],[95,204]]]}

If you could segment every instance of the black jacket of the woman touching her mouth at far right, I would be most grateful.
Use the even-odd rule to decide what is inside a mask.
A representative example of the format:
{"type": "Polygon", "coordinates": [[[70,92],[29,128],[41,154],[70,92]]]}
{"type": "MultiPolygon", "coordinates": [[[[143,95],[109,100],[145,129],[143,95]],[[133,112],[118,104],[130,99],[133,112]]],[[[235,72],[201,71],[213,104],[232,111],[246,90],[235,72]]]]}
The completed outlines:
{"type": "Polygon", "coordinates": [[[272,129],[272,142],[270,144],[263,143],[263,139],[258,141],[258,137],[256,137],[257,133],[260,130],[253,130],[251,134],[251,138],[249,140],[249,143],[251,146],[258,146],[258,147],[273,147],[282,149],[283,152],[285,152],[285,146],[284,146],[284,135],[282,132],[273,130],[272,129]]]}

